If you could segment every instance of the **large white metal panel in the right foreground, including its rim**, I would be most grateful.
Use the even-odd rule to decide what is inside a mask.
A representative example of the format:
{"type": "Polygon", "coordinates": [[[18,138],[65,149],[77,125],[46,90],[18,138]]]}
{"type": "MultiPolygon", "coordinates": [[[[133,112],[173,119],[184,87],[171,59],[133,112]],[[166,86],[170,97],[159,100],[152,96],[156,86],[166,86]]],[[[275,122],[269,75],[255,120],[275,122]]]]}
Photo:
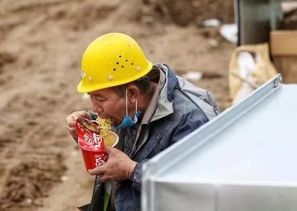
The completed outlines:
{"type": "Polygon", "coordinates": [[[296,120],[278,75],[146,164],[143,211],[296,211],[296,120]]]}

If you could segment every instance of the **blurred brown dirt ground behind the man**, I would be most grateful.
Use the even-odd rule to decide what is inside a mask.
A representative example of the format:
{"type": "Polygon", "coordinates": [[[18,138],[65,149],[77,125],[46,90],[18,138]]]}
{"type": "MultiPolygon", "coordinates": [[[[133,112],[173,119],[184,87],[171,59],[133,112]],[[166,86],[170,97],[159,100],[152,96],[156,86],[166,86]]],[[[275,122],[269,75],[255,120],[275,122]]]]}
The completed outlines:
{"type": "Polygon", "coordinates": [[[191,82],[226,108],[235,46],[198,26],[205,18],[233,22],[233,0],[180,2],[0,0],[0,211],[70,211],[91,200],[94,177],[64,119],[89,108],[76,92],[80,61],[104,33],[132,36],[149,60],[179,75],[202,72],[191,82]]]}

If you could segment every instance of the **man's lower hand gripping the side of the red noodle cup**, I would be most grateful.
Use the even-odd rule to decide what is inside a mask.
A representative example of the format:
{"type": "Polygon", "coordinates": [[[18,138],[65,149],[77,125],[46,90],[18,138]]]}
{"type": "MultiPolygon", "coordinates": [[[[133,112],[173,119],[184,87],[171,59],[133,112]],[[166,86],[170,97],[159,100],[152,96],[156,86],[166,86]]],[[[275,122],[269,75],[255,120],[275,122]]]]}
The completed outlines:
{"type": "Polygon", "coordinates": [[[108,160],[105,164],[89,170],[91,175],[101,175],[100,181],[122,181],[129,179],[135,169],[136,162],[132,161],[122,151],[104,145],[104,151],[108,153],[108,160]]]}

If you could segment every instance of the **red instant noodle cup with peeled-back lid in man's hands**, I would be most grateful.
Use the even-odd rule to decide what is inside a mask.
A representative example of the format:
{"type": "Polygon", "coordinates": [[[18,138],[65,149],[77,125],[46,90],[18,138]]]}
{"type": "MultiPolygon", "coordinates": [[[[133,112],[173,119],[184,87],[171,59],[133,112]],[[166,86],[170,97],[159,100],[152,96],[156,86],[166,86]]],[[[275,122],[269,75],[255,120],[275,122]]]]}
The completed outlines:
{"type": "Polygon", "coordinates": [[[111,147],[115,147],[119,140],[118,135],[109,131],[104,139],[97,132],[98,128],[96,124],[86,119],[82,120],[82,118],[79,118],[76,122],[76,129],[78,145],[81,148],[86,170],[94,169],[105,164],[108,159],[108,154],[104,152],[104,142],[111,147]]]}

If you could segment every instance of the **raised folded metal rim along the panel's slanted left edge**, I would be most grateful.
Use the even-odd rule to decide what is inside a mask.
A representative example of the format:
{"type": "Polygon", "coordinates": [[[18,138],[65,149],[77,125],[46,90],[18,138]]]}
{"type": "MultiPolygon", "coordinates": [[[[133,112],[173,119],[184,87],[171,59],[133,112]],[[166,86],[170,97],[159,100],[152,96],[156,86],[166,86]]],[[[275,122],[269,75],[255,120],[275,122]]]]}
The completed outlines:
{"type": "Polygon", "coordinates": [[[172,167],[174,163],[195,152],[211,137],[215,136],[225,127],[228,127],[235,120],[244,115],[250,108],[255,106],[280,85],[282,85],[282,75],[278,74],[267,83],[254,90],[245,100],[230,107],[217,118],[209,121],[202,127],[199,127],[197,130],[146,162],[143,166],[142,177],[142,211],[155,211],[153,181],[157,174],[162,173],[166,169],[172,167]],[[199,136],[199,141],[195,138],[197,136],[199,136]],[[177,152],[183,153],[176,156],[177,152]]]}

